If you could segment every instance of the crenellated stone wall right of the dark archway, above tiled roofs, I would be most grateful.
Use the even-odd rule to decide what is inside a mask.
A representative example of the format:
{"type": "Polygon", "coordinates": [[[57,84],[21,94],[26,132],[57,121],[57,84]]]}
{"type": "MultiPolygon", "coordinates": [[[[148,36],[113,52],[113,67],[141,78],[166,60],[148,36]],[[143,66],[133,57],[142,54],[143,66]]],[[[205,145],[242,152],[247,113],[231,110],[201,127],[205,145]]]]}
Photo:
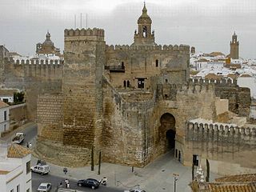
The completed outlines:
{"type": "MultiPolygon", "coordinates": [[[[186,127],[186,149],[190,154],[219,162],[238,164],[244,168],[256,168],[252,161],[256,155],[256,128],[245,128],[221,123],[190,122],[186,127]]],[[[217,170],[215,170],[217,172],[217,170]]],[[[225,170],[218,170],[224,173],[225,170]]]]}

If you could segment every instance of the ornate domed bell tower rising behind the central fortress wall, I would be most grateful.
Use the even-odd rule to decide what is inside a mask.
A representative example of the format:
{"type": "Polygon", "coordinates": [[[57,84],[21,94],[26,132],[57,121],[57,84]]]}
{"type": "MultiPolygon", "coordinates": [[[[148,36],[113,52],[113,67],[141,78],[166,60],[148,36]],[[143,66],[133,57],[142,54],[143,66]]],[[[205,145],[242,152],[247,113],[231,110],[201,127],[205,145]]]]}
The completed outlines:
{"type": "Polygon", "coordinates": [[[151,31],[152,20],[147,14],[146,3],[142,9],[142,15],[138,18],[138,31],[134,32],[134,46],[154,46],[154,31],[151,31]]]}

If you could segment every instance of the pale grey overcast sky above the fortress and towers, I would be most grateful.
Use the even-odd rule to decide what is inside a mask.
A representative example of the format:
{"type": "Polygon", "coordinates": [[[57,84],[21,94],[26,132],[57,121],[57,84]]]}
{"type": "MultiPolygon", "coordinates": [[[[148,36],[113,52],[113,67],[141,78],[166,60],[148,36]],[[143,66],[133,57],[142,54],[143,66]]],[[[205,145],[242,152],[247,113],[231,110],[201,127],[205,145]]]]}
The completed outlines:
{"type": "MultiPolygon", "coordinates": [[[[54,45],[64,47],[64,29],[98,27],[106,44],[133,42],[142,0],[0,0],[0,45],[20,54],[34,54],[50,31],[54,45]]],[[[256,58],[256,0],[146,0],[158,44],[187,44],[196,51],[230,52],[238,34],[240,56],[256,58]]]]}

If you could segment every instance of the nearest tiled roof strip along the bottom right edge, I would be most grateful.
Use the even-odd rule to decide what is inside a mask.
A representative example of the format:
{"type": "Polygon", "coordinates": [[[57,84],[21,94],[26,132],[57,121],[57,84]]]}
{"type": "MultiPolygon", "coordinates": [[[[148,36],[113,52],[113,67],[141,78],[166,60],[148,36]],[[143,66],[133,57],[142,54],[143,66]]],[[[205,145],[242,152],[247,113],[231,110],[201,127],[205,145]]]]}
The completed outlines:
{"type": "Polygon", "coordinates": [[[256,182],[248,183],[208,183],[209,192],[255,192],[256,182]]]}

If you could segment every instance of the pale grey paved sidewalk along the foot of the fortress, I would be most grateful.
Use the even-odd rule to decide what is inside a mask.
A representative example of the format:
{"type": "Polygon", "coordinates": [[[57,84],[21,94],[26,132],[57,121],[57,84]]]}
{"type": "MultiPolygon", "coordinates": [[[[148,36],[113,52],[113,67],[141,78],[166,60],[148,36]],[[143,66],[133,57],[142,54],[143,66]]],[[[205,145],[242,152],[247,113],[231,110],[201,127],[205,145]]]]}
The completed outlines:
{"type": "MultiPolygon", "coordinates": [[[[36,163],[36,159],[32,159],[36,163]]],[[[65,175],[62,166],[55,166],[49,163],[50,174],[69,179],[96,178],[98,180],[106,177],[108,186],[122,189],[140,187],[146,192],[174,191],[173,174],[179,174],[177,191],[189,192],[191,181],[191,167],[182,166],[174,159],[171,153],[167,153],[144,168],[134,167],[134,173],[129,166],[120,166],[110,163],[102,163],[101,174],[98,175],[98,166],[94,166],[94,171],[90,166],[81,168],[68,168],[65,175]]],[[[210,180],[214,180],[217,175],[210,174],[210,180]]]]}

